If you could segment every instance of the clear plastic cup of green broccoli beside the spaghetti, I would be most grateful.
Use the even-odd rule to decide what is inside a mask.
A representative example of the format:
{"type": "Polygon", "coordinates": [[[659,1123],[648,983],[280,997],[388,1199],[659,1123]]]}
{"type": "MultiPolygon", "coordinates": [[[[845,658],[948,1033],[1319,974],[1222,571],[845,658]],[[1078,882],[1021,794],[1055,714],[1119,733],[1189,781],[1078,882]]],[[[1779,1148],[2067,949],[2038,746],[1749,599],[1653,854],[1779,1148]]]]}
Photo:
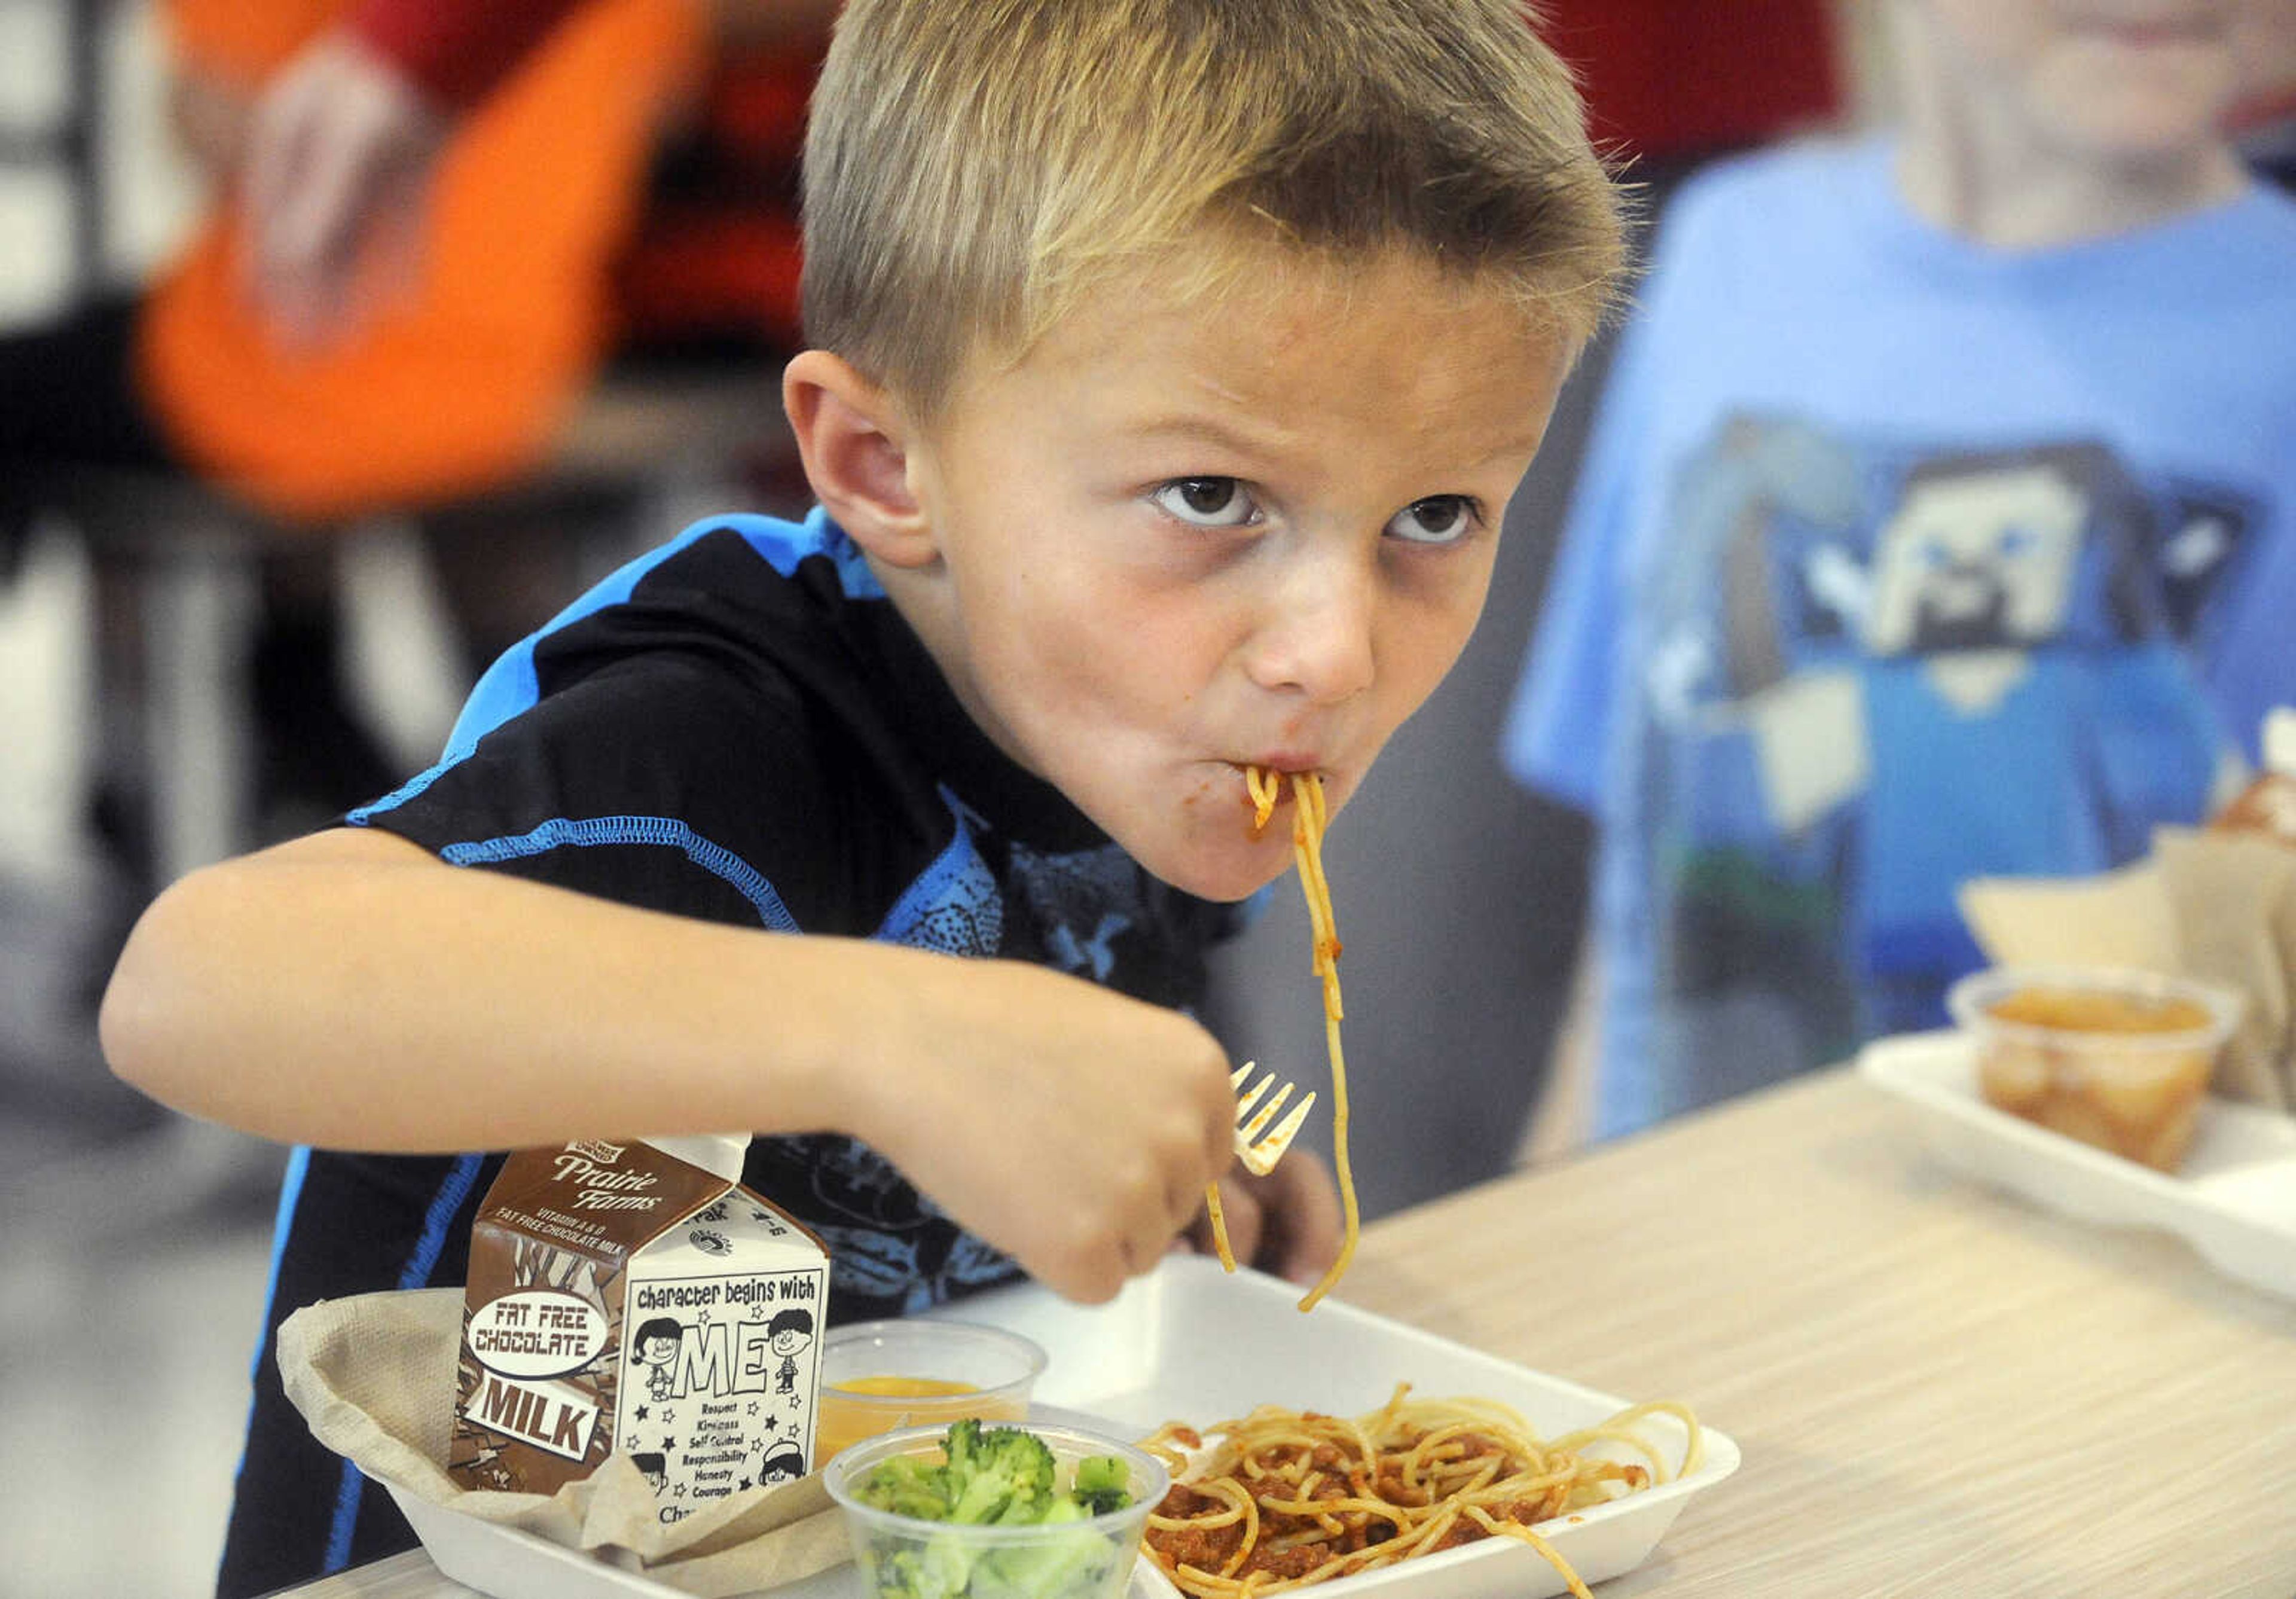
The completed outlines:
{"type": "Polygon", "coordinates": [[[1120,1599],[1164,1461],[1052,1422],[902,1427],[822,1470],[870,1599],[1120,1599]]]}

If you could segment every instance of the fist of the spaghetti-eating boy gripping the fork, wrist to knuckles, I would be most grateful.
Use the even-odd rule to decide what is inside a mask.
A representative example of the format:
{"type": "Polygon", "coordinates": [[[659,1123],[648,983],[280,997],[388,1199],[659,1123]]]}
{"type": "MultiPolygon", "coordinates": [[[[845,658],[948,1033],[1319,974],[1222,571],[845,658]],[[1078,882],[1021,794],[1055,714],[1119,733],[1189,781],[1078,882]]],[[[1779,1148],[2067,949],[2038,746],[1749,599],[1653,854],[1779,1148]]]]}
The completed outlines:
{"type": "Polygon", "coordinates": [[[1056,1293],[1150,1270],[1231,1162],[1228,1057],[1180,1011],[1013,960],[948,960],[914,1064],[868,1073],[854,1130],[1056,1293]]]}

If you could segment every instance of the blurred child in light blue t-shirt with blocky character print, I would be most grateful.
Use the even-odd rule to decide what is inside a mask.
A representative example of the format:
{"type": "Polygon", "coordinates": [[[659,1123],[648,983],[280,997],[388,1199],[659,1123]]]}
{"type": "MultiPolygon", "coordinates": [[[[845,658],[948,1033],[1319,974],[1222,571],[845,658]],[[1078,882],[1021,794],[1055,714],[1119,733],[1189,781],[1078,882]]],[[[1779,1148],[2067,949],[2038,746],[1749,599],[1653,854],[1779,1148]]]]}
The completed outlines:
{"type": "Polygon", "coordinates": [[[1506,724],[1598,820],[1598,1137],[1942,1025],[1961,882],[2140,855],[2296,692],[2262,7],[1887,21],[1892,133],[1669,207],[1506,724]]]}

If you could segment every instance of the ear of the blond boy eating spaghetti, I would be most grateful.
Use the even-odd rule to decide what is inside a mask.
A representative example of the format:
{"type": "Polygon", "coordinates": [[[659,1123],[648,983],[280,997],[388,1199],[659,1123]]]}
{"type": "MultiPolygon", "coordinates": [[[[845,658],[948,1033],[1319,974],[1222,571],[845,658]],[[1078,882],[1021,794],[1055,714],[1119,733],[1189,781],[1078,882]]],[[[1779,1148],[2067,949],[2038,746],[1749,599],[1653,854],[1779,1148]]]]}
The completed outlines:
{"type": "Polygon", "coordinates": [[[909,425],[893,397],[827,349],[799,352],[781,374],[815,499],[861,549],[918,567],[939,551],[909,482],[909,425]]]}

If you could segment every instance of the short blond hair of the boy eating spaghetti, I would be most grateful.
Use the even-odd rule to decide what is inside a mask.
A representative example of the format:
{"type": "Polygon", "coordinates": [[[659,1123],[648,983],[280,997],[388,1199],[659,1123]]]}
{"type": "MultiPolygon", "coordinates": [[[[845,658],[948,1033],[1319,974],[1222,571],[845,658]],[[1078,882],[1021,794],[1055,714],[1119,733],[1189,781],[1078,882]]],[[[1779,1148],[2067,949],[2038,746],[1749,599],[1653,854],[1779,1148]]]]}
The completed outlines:
{"type": "Polygon", "coordinates": [[[1279,241],[1421,253],[1575,349],[1621,232],[1518,0],[852,0],[806,136],[806,335],[932,414],[1116,269],[1217,292],[1279,241]]]}

